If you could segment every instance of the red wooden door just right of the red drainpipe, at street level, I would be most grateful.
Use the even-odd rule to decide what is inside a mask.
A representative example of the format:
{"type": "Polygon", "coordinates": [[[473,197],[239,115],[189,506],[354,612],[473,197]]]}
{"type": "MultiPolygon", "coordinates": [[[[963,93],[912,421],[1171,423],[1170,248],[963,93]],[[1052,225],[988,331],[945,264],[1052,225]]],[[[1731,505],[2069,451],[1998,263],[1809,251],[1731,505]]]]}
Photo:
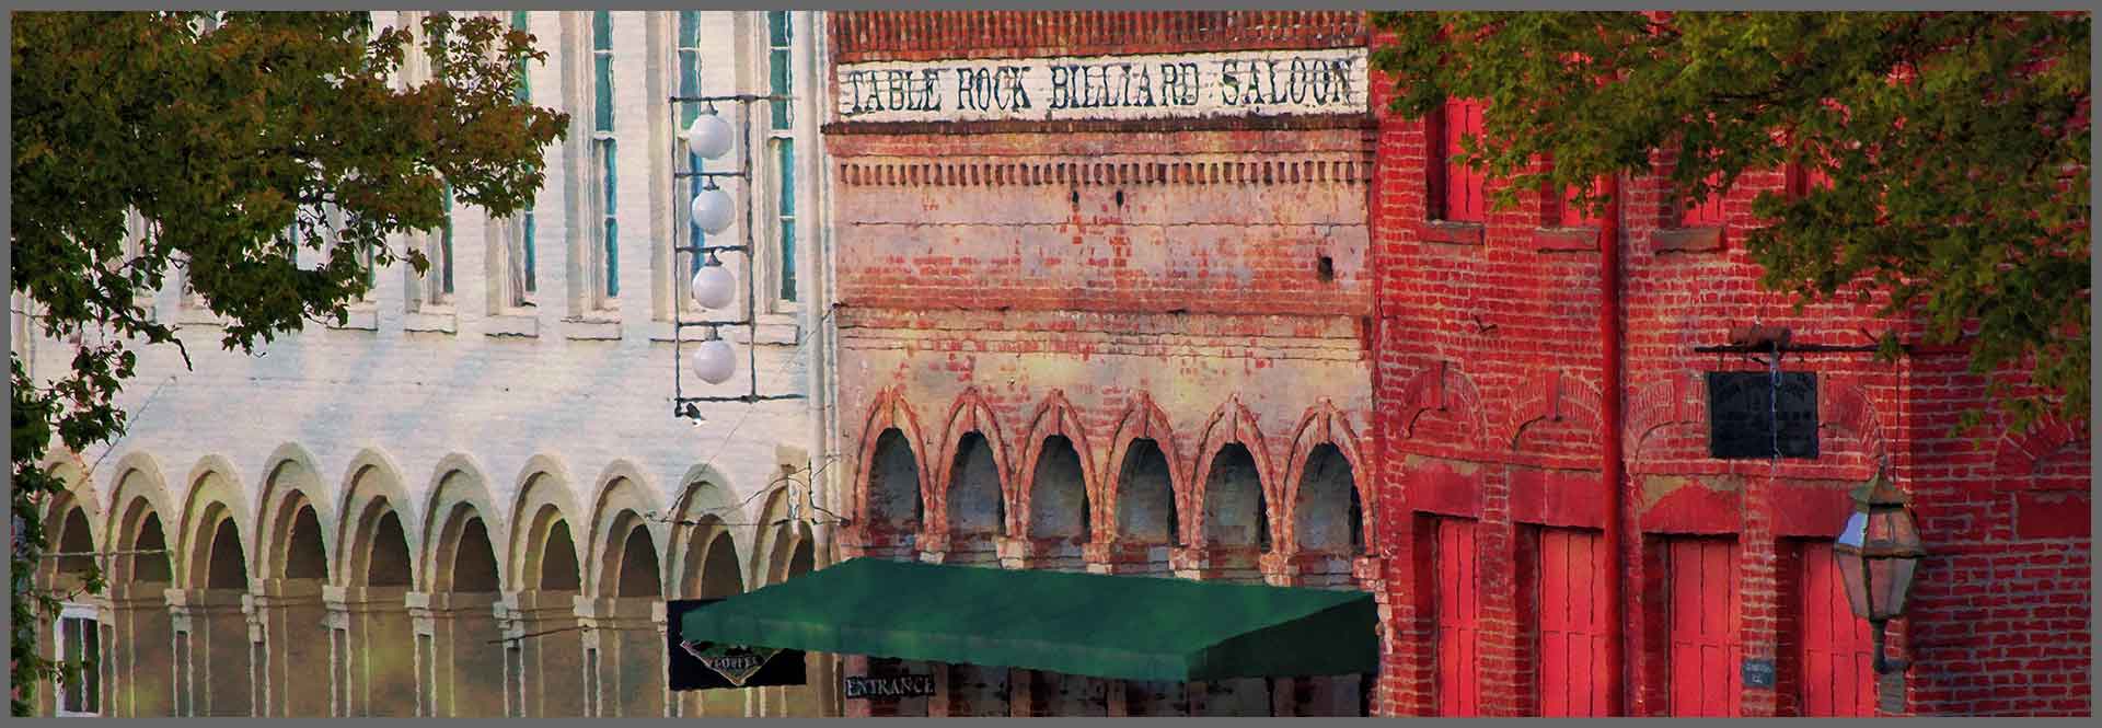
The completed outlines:
{"type": "Polygon", "coordinates": [[[1671,715],[1738,715],[1736,541],[1673,539],[1665,553],[1671,595],[1671,715]]]}

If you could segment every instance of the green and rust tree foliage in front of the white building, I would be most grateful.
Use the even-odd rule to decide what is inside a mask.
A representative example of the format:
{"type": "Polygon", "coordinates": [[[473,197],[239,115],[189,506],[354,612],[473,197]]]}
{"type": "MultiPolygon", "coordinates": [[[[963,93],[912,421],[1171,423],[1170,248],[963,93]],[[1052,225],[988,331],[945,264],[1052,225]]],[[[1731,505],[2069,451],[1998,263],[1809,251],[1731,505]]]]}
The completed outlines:
{"type": "Polygon", "coordinates": [[[490,17],[431,15],[418,34],[368,13],[15,13],[13,25],[13,290],[44,337],[78,341],[61,372],[29,377],[11,356],[19,715],[61,671],[34,650],[53,608],[29,581],[38,515],[63,488],[46,450],[120,436],[132,347],[181,347],[145,309],[162,276],[183,267],[227,349],[345,322],[366,257],[427,267],[389,236],[441,225],[448,185],[498,217],[528,204],[570,120],[515,101],[526,61],[547,55],[490,17]],[[401,80],[412,55],[429,80],[401,80]],[[128,215],[145,221],[130,250],[128,215]]]}

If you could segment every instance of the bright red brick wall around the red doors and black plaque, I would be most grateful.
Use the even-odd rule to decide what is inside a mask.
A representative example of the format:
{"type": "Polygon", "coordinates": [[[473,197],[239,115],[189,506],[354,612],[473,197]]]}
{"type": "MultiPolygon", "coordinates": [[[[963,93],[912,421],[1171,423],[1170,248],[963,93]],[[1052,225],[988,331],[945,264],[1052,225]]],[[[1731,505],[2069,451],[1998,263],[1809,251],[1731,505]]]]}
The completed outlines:
{"type": "MultiPolygon", "coordinates": [[[[1387,88],[1375,80],[1375,90],[1387,88]]],[[[1375,97],[1375,109],[1383,109],[1375,97]]],[[[1890,457],[1917,497],[1934,555],[1915,589],[1915,619],[1892,627],[1909,648],[1909,709],[1919,713],[2085,713],[2087,433],[2045,427],[2035,438],[1946,436],[1957,412],[1982,402],[1982,383],[1953,353],[1896,364],[1867,353],[1791,356],[1789,370],[1818,375],[1822,454],[1816,461],[1707,457],[1705,370],[1761,370],[1740,356],[1698,356],[1747,324],[1787,326],[1795,341],[1867,343],[1862,330],[1915,330],[1864,305],[1810,305],[1757,288],[1743,234],[1751,200],[1782,189],[1785,175],[1745,175],[1724,200],[1724,225],[1675,229],[1658,177],[1625,185],[1623,381],[1600,381],[1600,252],[1595,229],[1553,229],[1539,194],[1492,210],[1480,238],[1427,221],[1423,124],[1381,112],[1371,267],[1375,286],[1375,457],[1387,558],[1387,646],[1381,707],[1431,713],[1429,587],[1419,574],[1415,524],[1423,515],[1480,518],[1480,671],[1484,713],[1532,707],[1532,648],[1518,616],[1513,534],[1524,524],[1604,526],[1598,433],[1600,396],[1625,402],[1625,583],[1629,711],[1667,713],[1663,577],[1665,537],[1738,541],[1743,654],[1782,650],[1785,539],[1829,539],[1846,488],[1890,457]],[[2022,442],[1999,444],[1993,440],[2022,442]],[[1995,448],[2010,452],[1999,461],[1995,448]],[[2041,490],[2041,492],[2039,492],[2041,490]],[[1541,505],[1555,507],[1541,507],[1541,505]],[[2049,505],[2045,505],[2049,503],[2049,505]],[[2028,511],[2024,511],[2024,505],[2028,511]],[[2043,515],[2054,507],[2058,513],[2043,515]],[[2026,513],[2026,515],[2024,515],[2026,513]],[[2026,524],[2026,526],[2024,526],[2026,524]]],[[[1658,154],[1658,173],[1673,160],[1658,154]]],[[[1490,183],[1495,185],[1495,181],[1490,183]]],[[[1736,665],[1730,665],[1736,669],[1736,665]]],[[[1785,684],[1782,688],[1791,688],[1785,684]]],[[[1867,686],[1864,686],[1867,688],[1867,686]]],[[[1797,711],[1787,690],[1745,688],[1745,715],[1797,711]]]]}

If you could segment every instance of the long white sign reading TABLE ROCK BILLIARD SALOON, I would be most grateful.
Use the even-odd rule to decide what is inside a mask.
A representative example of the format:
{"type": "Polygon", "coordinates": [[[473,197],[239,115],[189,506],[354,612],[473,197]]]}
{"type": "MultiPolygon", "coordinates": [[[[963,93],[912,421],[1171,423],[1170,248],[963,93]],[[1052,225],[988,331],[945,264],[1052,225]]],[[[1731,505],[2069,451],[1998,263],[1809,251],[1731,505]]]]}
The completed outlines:
{"type": "Polygon", "coordinates": [[[1364,114],[1366,50],[1234,50],[839,65],[847,122],[1364,114]]]}

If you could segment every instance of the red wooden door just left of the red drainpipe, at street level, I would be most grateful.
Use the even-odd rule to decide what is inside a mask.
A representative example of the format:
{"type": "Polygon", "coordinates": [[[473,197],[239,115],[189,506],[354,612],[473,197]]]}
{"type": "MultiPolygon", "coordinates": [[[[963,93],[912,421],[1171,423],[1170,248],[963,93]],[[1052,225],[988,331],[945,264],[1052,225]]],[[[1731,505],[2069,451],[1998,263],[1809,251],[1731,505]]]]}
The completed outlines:
{"type": "Polygon", "coordinates": [[[1595,530],[1541,528],[1539,614],[1541,715],[1606,715],[1606,568],[1595,530]]]}

